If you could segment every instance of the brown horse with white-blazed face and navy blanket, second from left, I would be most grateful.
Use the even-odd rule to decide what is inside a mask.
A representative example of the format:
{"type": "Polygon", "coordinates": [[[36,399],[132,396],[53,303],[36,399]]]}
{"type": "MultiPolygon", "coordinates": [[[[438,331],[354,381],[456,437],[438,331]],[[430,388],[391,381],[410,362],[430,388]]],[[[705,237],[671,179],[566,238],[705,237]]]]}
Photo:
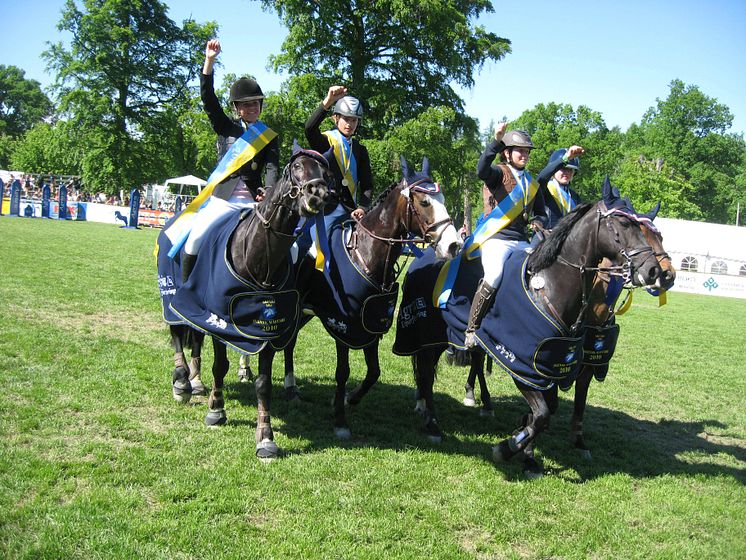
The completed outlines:
{"type": "MultiPolygon", "coordinates": [[[[420,172],[411,169],[403,156],[400,162],[402,179],[383,191],[360,221],[332,228],[329,270],[316,270],[314,257],[307,256],[299,275],[304,278],[299,285],[306,313],[301,328],[317,316],[336,346],[333,407],[334,433],[339,439],[351,436],[346,405],[359,404],[381,375],[378,345],[393,323],[399,294],[395,269],[404,245],[427,243],[438,257],[451,258],[462,243],[440,186],[430,178],[428,159],[423,158],[420,172]],[[366,375],[348,393],[350,349],[363,350],[366,375]]],[[[297,337],[285,348],[289,398],[300,397],[293,363],[296,342],[297,337]]]]}

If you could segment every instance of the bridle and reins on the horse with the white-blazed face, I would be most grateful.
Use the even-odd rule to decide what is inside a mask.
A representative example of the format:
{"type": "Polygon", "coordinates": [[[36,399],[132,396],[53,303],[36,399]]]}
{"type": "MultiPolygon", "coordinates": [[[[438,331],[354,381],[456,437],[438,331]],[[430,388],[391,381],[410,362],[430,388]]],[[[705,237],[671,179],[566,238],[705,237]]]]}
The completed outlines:
{"type": "MultiPolygon", "coordinates": [[[[453,224],[453,220],[450,218],[450,216],[448,218],[444,218],[442,220],[433,222],[432,224],[428,224],[427,220],[424,218],[422,213],[415,206],[414,204],[415,191],[419,190],[420,192],[426,192],[424,191],[424,189],[417,189],[417,186],[423,183],[432,183],[432,182],[433,182],[432,179],[430,179],[429,177],[419,179],[411,184],[407,183],[406,179],[404,180],[404,185],[401,186],[401,189],[409,188],[409,196],[407,196],[407,208],[405,211],[404,219],[400,221],[401,226],[398,228],[399,231],[402,232],[399,237],[383,237],[381,235],[373,233],[370,229],[368,229],[367,227],[363,225],[362,221],[358,221],[357,227],[353,230],[353,234],[350,238],[347,248],[348,250],[352,251],[355,254],[358,262],[360,262],[360,264],[363,267],[364,272],[367,275],[370,275],[370,268],[368,267],[367,263],[365,262],[365,259],[363,259],[358,249],[359,247],[358,232],[363,231],[365,232],[366,235],[368,235],[372,239],[385,243],[388,246],[388,249],[386,251],[386,259],[384,262],[385,272],[384,272],[384,278],[382,282],[384,289],[392,286],[394,282],[397,281],[402,271],[404,270],[404,267],[400,267],[398,271],[394,271],[391,282],[389,284],[386,283],[386,275],[387,275],[386,273],[390,269],[392,255],[394,253],[393,248],[395,246],[401,247],[406,243],[416,243],[416,244],[427,244],[430,247],[435,247],[440,241],[440,238],[443,236],[443,233],[445,232],[446,228],[449,225],[453,224]],[[420,232],[424,232],[422,233],[421,237],[410,237],[407,235],[408,232],[412,231],[413,220],[416,222],[417,227],[419,228],[420,232]],[[433,235],[433,233],[435,235],[433,235]]],[[[398,190],[401,190],[401,189],[398,189],[398,190]]]]}

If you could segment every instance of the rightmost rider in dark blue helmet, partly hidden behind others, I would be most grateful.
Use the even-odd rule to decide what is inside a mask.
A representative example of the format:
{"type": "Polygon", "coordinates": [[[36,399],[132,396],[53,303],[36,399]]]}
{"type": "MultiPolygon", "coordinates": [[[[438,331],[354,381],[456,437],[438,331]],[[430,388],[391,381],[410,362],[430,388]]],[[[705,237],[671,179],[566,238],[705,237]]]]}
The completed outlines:
{"type": "Polygon", "coordinates": [[[537,176],[542,196],[536,197],[534,213],[546,214],[546,223],[543,224],[546,229],[553,229],[562,217],[580,204],[580,195],[570,188],[570,182],[580,171],[580,156],[584,153],[581,146],[555,150],[537,176]]]}

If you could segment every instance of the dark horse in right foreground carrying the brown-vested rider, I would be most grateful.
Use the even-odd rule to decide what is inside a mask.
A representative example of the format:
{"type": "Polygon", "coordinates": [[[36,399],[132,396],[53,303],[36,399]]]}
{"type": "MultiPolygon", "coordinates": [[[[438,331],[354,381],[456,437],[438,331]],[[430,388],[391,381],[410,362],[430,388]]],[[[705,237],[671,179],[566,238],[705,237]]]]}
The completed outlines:
{"type": "MultiPolygon", "coordinates": [[[[496,463],[508,461],[533,445],[549,421],[544,391],[577,375],[583,357],[583,324],[596,272],[603,270],[636,286],[654,285],[661,275],[638,221],[619,208],[608,181],[603,195],[601,201],[579,205],[570,212],[531,254],[517,251],[511,255],[499,292],[477,330],[478,353],[487,353],[511,375],[531,408],[525,425],[492,448],[496,463]],[[600,266],[603,258],[611,263],[604,269],[600,266]]],[[[441,311],[434,307],[432,278],[440,275],[442,268],[438,263],[410,268],[393,348],[395,354],[412,356],[418,405],[424,413],[425,432],[433,441],[443,437],[433,398],[436,367],[449,343],[464,348],[469,308],[466,294],[473,295],[476,286],[473,282],[459,292],[457,278],[441,311]],[[456,306],[457,297],[465,300],[466,311],[461,317],[456,311],[464,304],[456,306]],[[420,309],[413,320],[411,308],[418,302],[420,309]]]]}

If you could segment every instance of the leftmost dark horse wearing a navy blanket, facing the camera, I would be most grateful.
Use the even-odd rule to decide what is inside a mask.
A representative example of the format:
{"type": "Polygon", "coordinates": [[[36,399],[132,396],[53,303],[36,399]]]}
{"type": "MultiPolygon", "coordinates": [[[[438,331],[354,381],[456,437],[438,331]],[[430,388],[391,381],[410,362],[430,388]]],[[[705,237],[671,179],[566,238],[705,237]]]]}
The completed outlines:
{"type": "MultiPolygon", "coordinates": [[[[322,154],[295,147],[277,184],[251,212],[236,213],[216,224],[216,232],[200,249],[188,280],[181,277],[178,260],[163,255],[169,246],[166,229],[158,237],[159,285],[177,284],[163,297],[177,320],[212,337],[214,387],[208,398],[205,423],[226,423],[224,378],[228,372],[227,346],[245,354],[259,354],[254,382],[258,407],[256,455],[272,460],[280,453],[270,418],[272,362],[295,333],[299,294],[290,261],[290,248],[301,217],[319,213],[329,198],[333,178],[322,154]],[[172,269],[168,269],[168,263],[172,269]]],[[[183,355],[182,355],[183,359],[183,355]]],[[[188,372],[173,372],[177,388],[188,392],[188,372]]]]}

